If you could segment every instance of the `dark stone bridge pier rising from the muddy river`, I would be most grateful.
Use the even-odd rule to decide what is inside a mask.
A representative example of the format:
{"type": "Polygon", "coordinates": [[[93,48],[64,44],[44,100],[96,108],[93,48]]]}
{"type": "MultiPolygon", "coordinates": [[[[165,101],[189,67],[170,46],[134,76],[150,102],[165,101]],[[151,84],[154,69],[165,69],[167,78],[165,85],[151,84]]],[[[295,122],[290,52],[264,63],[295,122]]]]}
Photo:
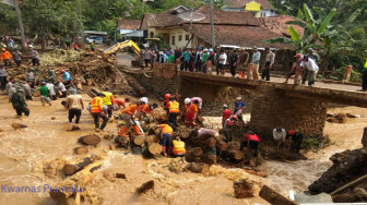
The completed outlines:
{"type": "Polygon", "coordinates": [[[327,102],[287,97],[284,91],[259,86],[254,92],[250,129],[271,138],[276,126],[298,129],[307,135],[322,135],[327,102]]]}

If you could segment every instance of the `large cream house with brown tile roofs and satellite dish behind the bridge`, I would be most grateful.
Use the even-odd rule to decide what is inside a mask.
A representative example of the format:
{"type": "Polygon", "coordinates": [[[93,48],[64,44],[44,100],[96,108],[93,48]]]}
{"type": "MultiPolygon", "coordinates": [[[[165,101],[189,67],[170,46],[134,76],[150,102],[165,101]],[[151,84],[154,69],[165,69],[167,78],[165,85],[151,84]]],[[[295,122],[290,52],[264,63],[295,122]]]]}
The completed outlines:
{"type": "MultiPolygon", "coordinates": [[[[253,46],[264,48],[285,48],[286,45],[265,45],[270,38],[283,37],[265,27],[250,12],[229,12],[214,10],[214,29],[216,46],[234,45],[245,48],[253,46]]],[[[180,5],[161,14],[145,14],[142,19],[141,31],[145,37],[162,35],[170,48],[212,47],[210,29],[210,9],[201,7],[193,11],[180,5]],[[183,17],[182,17],[183,16],[183,17]],[[192,21],[185,16],[193,16],[192,21]]]]}

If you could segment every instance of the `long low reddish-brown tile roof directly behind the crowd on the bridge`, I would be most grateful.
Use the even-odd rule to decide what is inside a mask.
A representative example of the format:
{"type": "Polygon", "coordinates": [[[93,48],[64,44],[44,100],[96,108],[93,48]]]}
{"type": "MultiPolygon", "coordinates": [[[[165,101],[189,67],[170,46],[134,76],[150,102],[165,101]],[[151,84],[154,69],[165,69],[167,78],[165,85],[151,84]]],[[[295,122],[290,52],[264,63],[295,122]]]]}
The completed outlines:
{"type": "MultiPolygon", "coordinates": [[[[192,33],[197,37],[211,43],[211,32],[209,24],[182,25],[182,28],[192,33]]],[[[240,47],[272,47],[279,49],[292,48],[291,45],[264,44],[264,40],[282,37],[269,29],[256,26],[215,25],[216,45],[236,45],[240,47]]]]}

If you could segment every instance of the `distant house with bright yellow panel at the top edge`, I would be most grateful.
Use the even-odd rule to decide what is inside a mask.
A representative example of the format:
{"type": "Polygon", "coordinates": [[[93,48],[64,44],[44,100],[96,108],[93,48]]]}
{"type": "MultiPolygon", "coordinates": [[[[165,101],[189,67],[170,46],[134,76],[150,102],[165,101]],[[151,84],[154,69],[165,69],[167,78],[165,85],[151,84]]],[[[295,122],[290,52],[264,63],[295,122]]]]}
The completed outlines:
{"type": "Polygon", "coordinates": [[[248,11],[256,17],[276,15],[274,7],[269,0],[224,0],[224,11],[248,11]]]}

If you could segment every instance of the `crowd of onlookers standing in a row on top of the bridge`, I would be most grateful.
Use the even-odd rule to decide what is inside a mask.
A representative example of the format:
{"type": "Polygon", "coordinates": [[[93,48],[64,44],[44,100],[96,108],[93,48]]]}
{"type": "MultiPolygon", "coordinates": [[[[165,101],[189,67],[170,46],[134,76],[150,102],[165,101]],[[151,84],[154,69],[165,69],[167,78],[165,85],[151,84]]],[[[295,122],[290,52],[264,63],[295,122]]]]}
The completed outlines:
{"type": "MultiPolygon", "coordinates": [[[[270,81],[270,71],[275,63],[275,52],[270,48],[265,48],[265,56],[262,57],[257,47],[253,47],[251,52],[249,53],[244,48],[230,51],[203,47],[198,49],[187,48],[185,50],[181,48],[174,50],[164,49],[161,51],[146,48],[141,51],[141,64],[142,69],[144,69],[153,68],[155,62],[176,63],[179,64],[181,71],[210,74],[215,71],[217,75],[225,75],[226,70],[228,70],[233,77],[270,81]],[[260,68],[261,61],[264,61],[263,68],[260,68]]],[[[305,85],[306,81],[308,81],[308,85],[313,86],[319,71],[319,55],[312,48],[309,48],[307,55],[296,55],[292,71],[286,75],[286,83],[293,75],[300,75],[299,83],[295,82],[295,84],[305,85]],[[299,74],[296,72],[297,70],[299,74]]]]}

